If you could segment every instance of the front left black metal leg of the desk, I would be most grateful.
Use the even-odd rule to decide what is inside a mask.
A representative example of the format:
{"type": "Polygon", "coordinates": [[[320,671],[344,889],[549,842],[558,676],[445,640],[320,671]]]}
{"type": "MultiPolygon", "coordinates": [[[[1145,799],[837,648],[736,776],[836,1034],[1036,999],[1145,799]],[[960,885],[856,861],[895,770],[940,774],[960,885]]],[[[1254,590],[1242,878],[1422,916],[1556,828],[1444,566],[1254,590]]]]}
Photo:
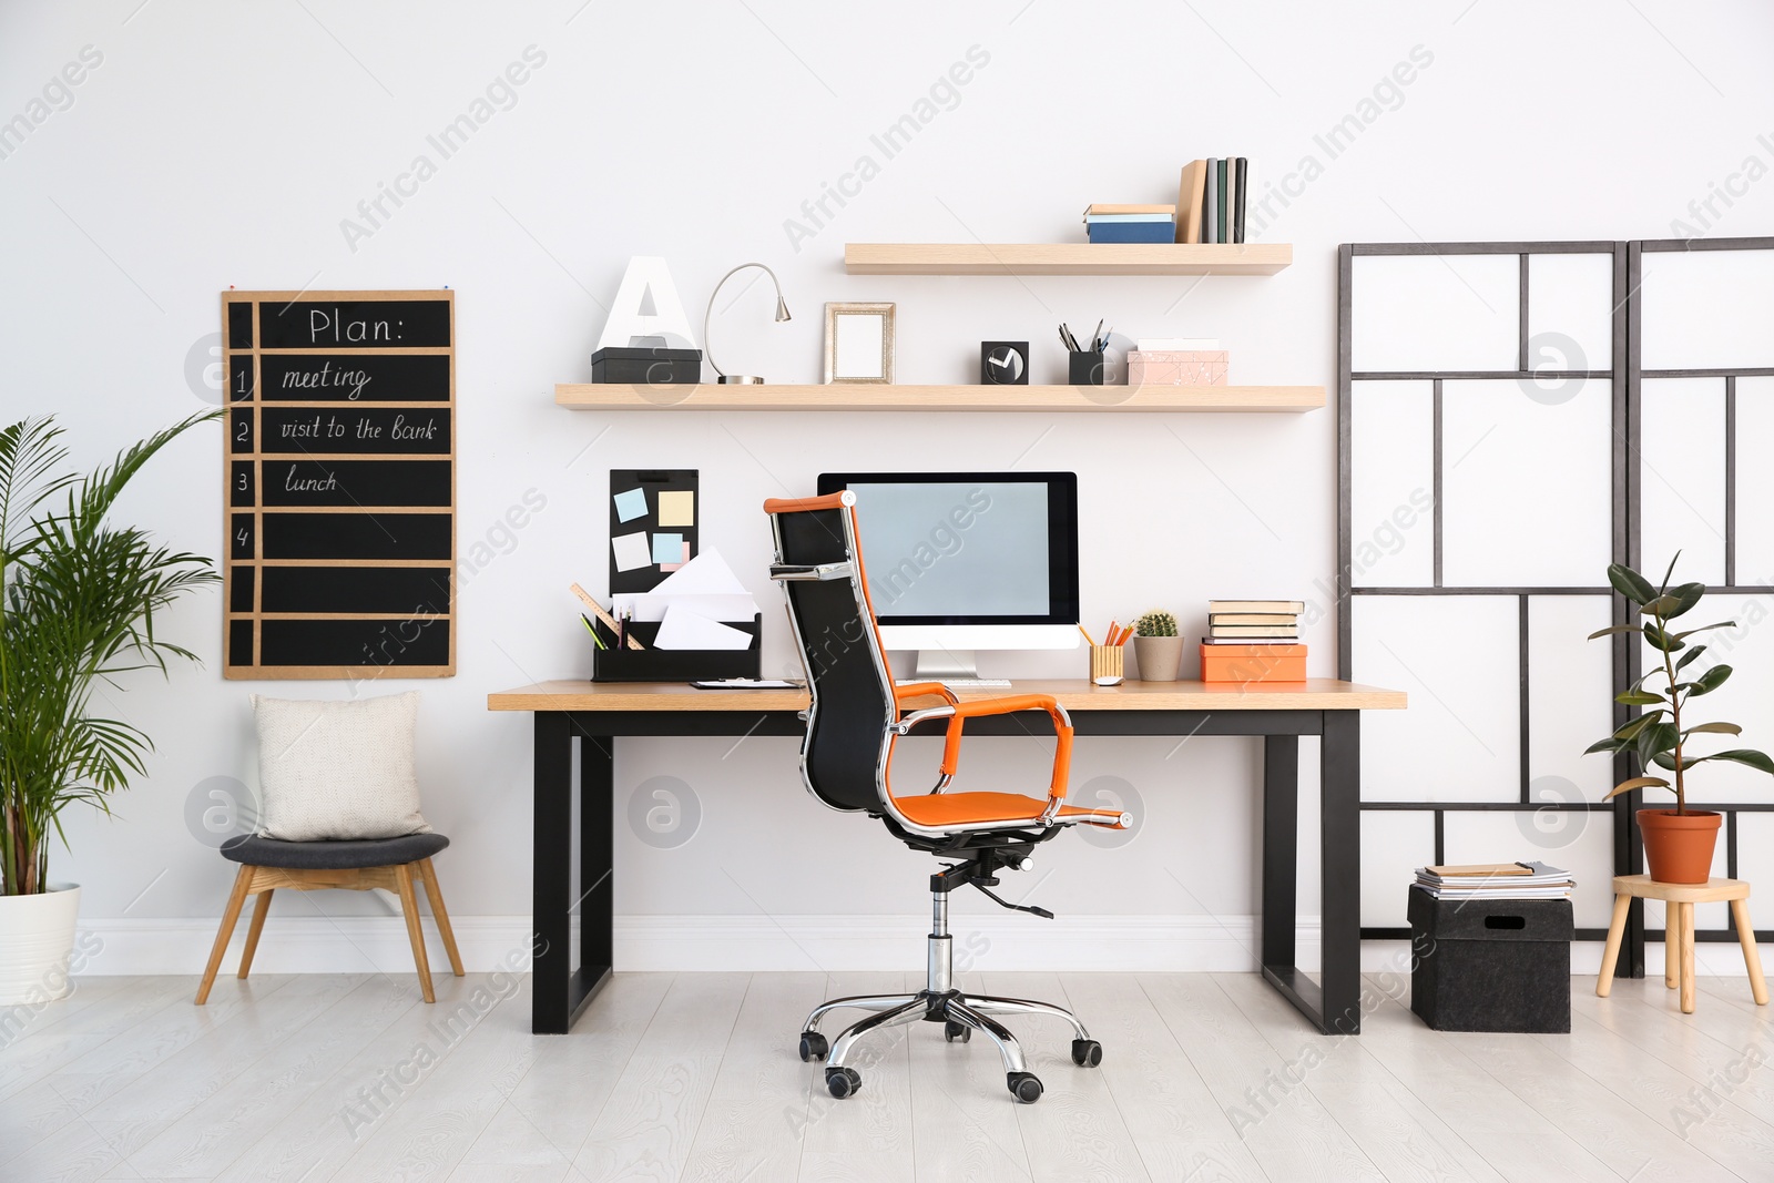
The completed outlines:
{"type": "Polygon", "coordinates": [[[530,869],[530,1030],[566,1034],[571,1025],[573,951],[573,733],[569,717],[536,711],[536,862],[530,869]]]}

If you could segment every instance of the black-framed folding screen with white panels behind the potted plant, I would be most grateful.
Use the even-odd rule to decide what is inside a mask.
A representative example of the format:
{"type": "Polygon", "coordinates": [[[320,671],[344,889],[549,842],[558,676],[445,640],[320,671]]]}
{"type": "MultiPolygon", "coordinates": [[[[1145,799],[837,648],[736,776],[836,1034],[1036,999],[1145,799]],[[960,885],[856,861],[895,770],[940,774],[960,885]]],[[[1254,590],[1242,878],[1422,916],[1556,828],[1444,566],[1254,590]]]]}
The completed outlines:
{"type": "MultiPolygon", "coordinates": [[[[1543,858],[1598,940],[1643,869],[1639,795],[1602,802],[1625,761],[1582,756],[1639,672],[1584,640],[1629,619],[1609,562],[1682,550],[1739,621],[1705,717],[1774,747],[1774,463],[1737,463],[1774,456],[1774,239],[1345,245],[1338,289],[1339,676],[1412,693],[1362,736],[1362,936],[1409,935],[1412,867],[1543,858]]],[[[1696,782],[1715,874],[1774,883],[1774,780],[1696,782]]],[[[1735,940],[1723,906],[1699,928],[1735,940]]],[[[1623,972],[1643,936],[1634,908],[1623,972]]]]}

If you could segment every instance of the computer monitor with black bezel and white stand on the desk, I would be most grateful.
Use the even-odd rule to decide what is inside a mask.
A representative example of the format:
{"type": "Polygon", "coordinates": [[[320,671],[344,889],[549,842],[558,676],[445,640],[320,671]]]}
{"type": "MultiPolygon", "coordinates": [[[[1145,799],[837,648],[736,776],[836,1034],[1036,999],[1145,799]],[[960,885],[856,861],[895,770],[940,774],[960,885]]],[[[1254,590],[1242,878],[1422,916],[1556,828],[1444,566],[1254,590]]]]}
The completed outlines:
{"type": "Polygon", "coordinates": [[[882,644],[917,678],[977,678],[977,649],[1073,649],[1079,477],[1071,472],[821,472],[857,495],[882,644]]]}

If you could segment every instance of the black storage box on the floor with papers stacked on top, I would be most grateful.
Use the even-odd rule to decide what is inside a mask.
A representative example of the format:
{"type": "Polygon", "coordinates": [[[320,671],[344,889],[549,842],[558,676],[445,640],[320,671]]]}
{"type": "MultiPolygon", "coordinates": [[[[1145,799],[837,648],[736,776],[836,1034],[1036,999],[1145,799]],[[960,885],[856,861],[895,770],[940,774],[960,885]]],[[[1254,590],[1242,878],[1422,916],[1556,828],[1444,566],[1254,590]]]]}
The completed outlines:
{"type": "Polygon", "coordinates": [[[1570,1030],[1570,899],[1410,889],[1410,1009],[1435,1030],[1570,1030]]]}

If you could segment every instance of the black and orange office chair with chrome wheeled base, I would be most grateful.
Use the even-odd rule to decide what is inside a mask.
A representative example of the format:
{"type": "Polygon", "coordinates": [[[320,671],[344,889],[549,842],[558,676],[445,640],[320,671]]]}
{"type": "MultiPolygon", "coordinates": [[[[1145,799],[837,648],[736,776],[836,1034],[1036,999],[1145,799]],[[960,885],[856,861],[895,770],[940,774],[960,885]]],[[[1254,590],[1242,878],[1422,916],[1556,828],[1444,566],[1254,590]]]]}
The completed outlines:
{"type": "Polygon", "coordinates": [[[800,1036],[802,1061],[825,1061],[825,1087],[836,1098],[853,1094],[862,1075],[846,1064],[855,1045],[901,1023],[942,1023],[949,1043],[967,1043],[985,1032],[1004,1059],[1006,1085],[1018,1101],[1041,1098],[1041,1082],[1027,1069],[1017,1038],[992,1015],[1052,1015],[1071,1023],[1071,1062],[1095,1068],[1102,1045],[1091,1039],[1071,1011],[1048,1002],[969,995],[954,988],[949,892],[972,885],[993,903],[1015,912],[1054,919],[1052,912],[1011,905],[992,892],[1002,869],[1025,871],[1029,851],[1071,825],[1125,828],[1132,818],[1112,809],[1066,803],[1071,764],[1071,720],[1064,708],[1041,693],[962,702],[942,683],[894,686],[882,653],[869,603],[862,548],[857,543],[855,493],[765,502],[775,532],[770,578],[782,584],[795,644],[807,669],[812,704],[805,711],[807,738],[800,773],[807,789],[832,809],[866,812],[912,850],[956,858],[930,876],[931,928],[928,981],[908,995],[867,995],[821,1002],[800,1036]],[[907,711],[901,701],[935,695],[944,706],[907,711]],[[1057,740],[1054,775],[1045,796],[1020,793],[949,793],[962,752],[965,720],[985,715],[1045,711],[1057,740]],[[889,787],[894,741],[930,720],[947,720],[942,764],[933,789],[894,793],[889,787]],[[820,1022],[839,1007],[871,1011],[827,1041],[820,1022]]]}

